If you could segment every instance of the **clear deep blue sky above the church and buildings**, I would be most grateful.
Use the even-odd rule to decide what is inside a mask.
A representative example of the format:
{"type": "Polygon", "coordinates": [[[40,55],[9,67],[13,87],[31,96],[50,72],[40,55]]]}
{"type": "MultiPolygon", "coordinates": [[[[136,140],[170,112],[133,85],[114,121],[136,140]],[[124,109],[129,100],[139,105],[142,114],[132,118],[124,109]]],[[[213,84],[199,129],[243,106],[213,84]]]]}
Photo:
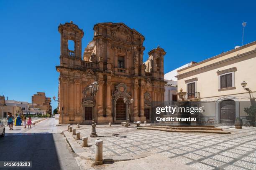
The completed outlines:
{"type": "Polygon", "coordinates": [[[36,92],[57,96],[59,23],[72,20],[84,30],[83,49],[95,23],[125,23],[146,37],[144,61],[149,50],[164,48],[166,73],[241,45],[243,21],[244,44],[255,41],[255,6],[245,0],[0,0],[0,95],[28,102],[36,92]]]}

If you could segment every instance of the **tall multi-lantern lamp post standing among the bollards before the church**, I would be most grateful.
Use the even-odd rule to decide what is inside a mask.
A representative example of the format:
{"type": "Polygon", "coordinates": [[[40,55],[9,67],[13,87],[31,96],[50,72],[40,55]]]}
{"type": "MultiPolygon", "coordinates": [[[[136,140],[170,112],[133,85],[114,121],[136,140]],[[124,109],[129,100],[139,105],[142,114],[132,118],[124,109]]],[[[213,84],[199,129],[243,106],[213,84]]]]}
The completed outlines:
{"type": "Polygon", "coordinates": [[[96,138],[98,135],[96,133],[96,124],[94,121],[94,97],[97,94],[97,91],[99,89],[99,83],[97,82],[97,80],[94,80],[94,82],[92,84],[89,85],[89,92],[90,95],[92,96],[92,133],[90,135],[91,138],[96,138]]]}

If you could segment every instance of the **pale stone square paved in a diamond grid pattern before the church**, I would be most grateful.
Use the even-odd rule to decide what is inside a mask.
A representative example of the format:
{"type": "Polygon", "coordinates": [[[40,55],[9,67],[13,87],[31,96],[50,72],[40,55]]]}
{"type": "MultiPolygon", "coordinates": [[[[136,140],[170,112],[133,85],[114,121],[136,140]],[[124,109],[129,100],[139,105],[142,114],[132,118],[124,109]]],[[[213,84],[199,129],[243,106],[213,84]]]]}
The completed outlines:
{"type": "MultiPolygon", "coordinates": [[[[256,170],[256,128],[230,130],[229,135],[172,133],[97,125],[98,138],[103,140],[105,156],[151,152],[198,170],[256,170]]],[[[81,137],[89,137],[88,145],[94,145],[96,138],[90,138],[89,125],[82,125],[82,129],[77,129],[77,132],[81,132],[81,137]]],[[[81,142],[78,140],[78,143],[81,142]]],[[[84,150],[95,153],[94,146],[84,150]]]]}

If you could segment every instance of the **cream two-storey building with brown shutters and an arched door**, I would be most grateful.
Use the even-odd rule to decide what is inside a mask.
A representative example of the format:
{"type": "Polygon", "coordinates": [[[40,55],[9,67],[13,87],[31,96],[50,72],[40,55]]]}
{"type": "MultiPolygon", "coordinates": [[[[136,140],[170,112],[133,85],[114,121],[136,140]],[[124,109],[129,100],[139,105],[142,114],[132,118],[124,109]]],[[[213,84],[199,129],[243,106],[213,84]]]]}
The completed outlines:
{"type": "Polygon", "coordinates": [[[177,72],[178,90],[187,92],[186,100],[202,101],[203,116],[213,117],[217,122],[234,122],[236,117],[246,116],[244,107],[255,103],[256,41],[177,72]],[[247,82],[251,97],[241,86],[243,81],[247,82]]]}

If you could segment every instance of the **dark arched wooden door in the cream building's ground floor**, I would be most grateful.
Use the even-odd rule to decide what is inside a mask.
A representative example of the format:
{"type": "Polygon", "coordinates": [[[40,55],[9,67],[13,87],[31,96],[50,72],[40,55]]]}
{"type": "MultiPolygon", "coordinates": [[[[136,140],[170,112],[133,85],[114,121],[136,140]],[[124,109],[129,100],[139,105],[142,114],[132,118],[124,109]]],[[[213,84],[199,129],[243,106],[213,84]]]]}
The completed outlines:
{"type": "Polygon", "coordinates": [[[235,123],[236,102],[234,100],[223,100],[220,102],[220,122],[225,120],[235,123]]]}

